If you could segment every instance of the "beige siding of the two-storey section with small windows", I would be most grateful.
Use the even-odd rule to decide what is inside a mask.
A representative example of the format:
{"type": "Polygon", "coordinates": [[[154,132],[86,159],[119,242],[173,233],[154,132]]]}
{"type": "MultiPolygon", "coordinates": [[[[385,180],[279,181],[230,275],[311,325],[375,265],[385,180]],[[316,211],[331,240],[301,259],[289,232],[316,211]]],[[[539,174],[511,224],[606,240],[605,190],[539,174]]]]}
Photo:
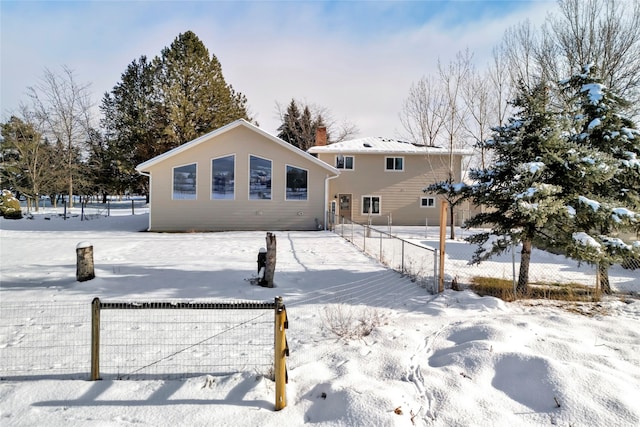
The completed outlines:
{"type": "MultiPolygon", "coordinates": [[[[357,153],[353,157],[354,169],[341,170],[340,176],[330,181],[329,197],[336,200],[338,194],[351,194],[351,215],[354,221],[364,223],[368,220],[368,216],[362,214],[362,196],[368,195],[381,199],[380,215],[371,215],[373,224],[387,224],[390,215],[394,225],[424,225],[425,221],[434,225],[438,223],[441,198],[425,194],[422,189],[448,178],[448,156],[357,153]],[[404,170],[386,171],[386,157],[403,157],[404,170]],[[421,207],[421,197],[434,197],[435,206],[421,207]]],[[[335,165],[335,154],[320,153],[318,158],[335,165]]],[[[456,180],[460,180],[460,156],[456,156],[454,173],[456,180]]]]}

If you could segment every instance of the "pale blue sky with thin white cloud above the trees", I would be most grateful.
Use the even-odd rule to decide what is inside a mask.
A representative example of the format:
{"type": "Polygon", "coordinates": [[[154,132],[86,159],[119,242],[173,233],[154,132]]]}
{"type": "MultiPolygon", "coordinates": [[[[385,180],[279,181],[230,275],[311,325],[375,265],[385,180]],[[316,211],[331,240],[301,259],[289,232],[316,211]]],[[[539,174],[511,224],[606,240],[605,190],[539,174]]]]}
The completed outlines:
{"type": "Polygon", "coordinates": [[[74,70],[94,102],[141,55],[193,31],[220,60],[266,131],[276,103],[329,109],[361,136],[399,136],[411,83],[469,48],[478,66],[504,30],[542,23],[554,1],[7,1],[0,0],[0,117],[43,70],[74,70]]]}

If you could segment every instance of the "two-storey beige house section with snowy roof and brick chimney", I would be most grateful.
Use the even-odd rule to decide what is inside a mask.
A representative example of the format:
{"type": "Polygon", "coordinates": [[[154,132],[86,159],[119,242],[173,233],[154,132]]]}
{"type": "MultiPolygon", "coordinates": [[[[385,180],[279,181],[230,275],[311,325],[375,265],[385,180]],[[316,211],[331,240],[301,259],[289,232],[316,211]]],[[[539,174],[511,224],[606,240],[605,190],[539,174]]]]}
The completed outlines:
{"type": "MultiPolygon", "coordinates": [[[[378,137],[327,145],[322,129],[308,152],[341,172],[329,181],[331,212],[359,223],[371,219],[374,225],[438,224],[440,198],[423,188],[446,180],[449,167],[460,182],[463,162],[472,154],[454,150],[450,156],[446,148],[378,137]]],[[[455,210],[457,224],[467,219],[468,209],[455,210]]]]}

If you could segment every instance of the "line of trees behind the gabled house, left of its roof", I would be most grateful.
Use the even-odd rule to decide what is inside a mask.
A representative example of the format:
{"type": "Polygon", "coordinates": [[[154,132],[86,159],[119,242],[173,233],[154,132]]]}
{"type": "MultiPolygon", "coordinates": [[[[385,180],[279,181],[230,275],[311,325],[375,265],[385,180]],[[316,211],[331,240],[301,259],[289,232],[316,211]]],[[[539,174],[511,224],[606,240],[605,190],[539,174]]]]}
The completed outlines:
{"type": "Polygon", "coordinates": [[[236,119],[251,120],[246,97],[226,83],[220,62],[191,31],[155,58],[127,66],[103,96],[99,126],[89,87],[63,67],[46,69],[28,89],[31,103],[2,125],[3,187],[30,200],[145,194],[137,164],[236,119]]]}

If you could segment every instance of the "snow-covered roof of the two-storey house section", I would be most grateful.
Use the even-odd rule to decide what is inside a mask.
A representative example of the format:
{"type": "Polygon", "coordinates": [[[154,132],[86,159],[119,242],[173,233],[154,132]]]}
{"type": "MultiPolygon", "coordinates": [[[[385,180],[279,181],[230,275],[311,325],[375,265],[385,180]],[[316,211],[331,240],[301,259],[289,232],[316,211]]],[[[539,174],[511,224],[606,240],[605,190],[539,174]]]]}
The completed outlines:
{"type": "MultiPolygon", "coordinates": [[[[382,137],[366,137],[329,145],[316,145],[309,153],[374,153],[374,154],[449,154],[445,147],[426,146],[382,137]]],[[[454,149],[453,154],[470,156],[472,150],[454,149]]]]}

